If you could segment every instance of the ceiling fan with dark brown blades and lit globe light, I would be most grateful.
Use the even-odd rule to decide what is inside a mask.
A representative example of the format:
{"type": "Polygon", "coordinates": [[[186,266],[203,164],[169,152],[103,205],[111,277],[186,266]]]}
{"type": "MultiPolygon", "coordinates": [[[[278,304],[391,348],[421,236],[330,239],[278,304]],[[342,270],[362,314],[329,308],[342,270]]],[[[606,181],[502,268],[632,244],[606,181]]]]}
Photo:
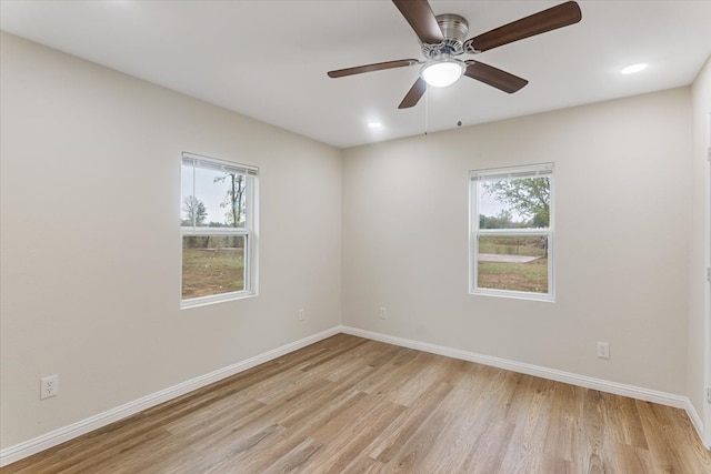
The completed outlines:
{"type": "Polygon", "coordinates": [[[392,2],[420,39],[425,59],[401,59],[358,65],[329,71],[328,75],[343,78],[363,72],[421,64],[420,77],[398,109],[414,107],[424,94],[428,84],[433,87],[451,85],[462,75],[492,85],[503,92],[513,93],[528,84],[529,81],[483,62],[471,59],[461,60],[455,57],[463,53],[479,54],[513,41],[568,27],[579,22],[582,18],[578,3],[567,1],[465,40],[469,23],[459,14],[448,13],[435,17],[428,0],[392,0],[392,2]]]}

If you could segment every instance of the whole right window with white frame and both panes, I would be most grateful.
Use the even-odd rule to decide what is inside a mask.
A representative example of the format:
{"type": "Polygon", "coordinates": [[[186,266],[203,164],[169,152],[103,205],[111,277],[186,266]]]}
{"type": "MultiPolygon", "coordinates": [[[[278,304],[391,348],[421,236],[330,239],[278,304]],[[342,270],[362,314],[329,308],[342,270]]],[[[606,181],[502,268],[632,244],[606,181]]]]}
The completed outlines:
{"type": "Polygon", "coordinates": [[[470,292],[553,300],[553,164],[471,172],[470,292]]]}

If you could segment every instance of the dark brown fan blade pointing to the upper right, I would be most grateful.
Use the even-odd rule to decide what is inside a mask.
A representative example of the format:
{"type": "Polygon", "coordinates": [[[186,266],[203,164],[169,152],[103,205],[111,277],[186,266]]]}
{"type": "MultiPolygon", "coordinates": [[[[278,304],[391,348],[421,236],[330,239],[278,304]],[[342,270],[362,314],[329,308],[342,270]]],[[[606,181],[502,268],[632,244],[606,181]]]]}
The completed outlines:
{"type": "Polygon", "coordinates": [[[464,51],[487,51],[513,41],[568,27],[579,22],[581,19],[582,13],[578,3],[568,1],[471,38],[464,41],[464,51]]]}

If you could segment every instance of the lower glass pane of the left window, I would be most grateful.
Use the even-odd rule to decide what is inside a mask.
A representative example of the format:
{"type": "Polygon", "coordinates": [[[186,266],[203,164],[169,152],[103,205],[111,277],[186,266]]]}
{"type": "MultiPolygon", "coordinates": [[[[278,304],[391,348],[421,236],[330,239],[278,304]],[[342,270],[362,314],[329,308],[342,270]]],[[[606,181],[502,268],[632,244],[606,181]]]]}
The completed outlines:
{"type": "Polygon", "coordinates": [[[182,297],[244,291],[244,235],[182,239],[182,297]]]}

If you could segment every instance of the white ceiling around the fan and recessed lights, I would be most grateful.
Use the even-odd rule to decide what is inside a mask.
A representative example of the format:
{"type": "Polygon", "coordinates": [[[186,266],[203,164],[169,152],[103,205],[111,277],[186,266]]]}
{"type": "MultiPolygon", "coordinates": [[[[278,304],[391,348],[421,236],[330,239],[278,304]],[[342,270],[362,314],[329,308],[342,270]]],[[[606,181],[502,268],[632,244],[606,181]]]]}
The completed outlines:
{"type": "MultiPolygon", "coordinates": [[[[558,3],[430,1],[468,37],[558,3]]],[[[339,148],[688,85],[711,54],[711,1],[579,3],[578,24],[464,57],[528,79],[521,91],[462,78],[408,110],[418,67],[326,74],[422,58],[388,0],[1,0],[0,28],[339,148]],[[619,72],[635,62],[649,68],[619,72]]]]}

